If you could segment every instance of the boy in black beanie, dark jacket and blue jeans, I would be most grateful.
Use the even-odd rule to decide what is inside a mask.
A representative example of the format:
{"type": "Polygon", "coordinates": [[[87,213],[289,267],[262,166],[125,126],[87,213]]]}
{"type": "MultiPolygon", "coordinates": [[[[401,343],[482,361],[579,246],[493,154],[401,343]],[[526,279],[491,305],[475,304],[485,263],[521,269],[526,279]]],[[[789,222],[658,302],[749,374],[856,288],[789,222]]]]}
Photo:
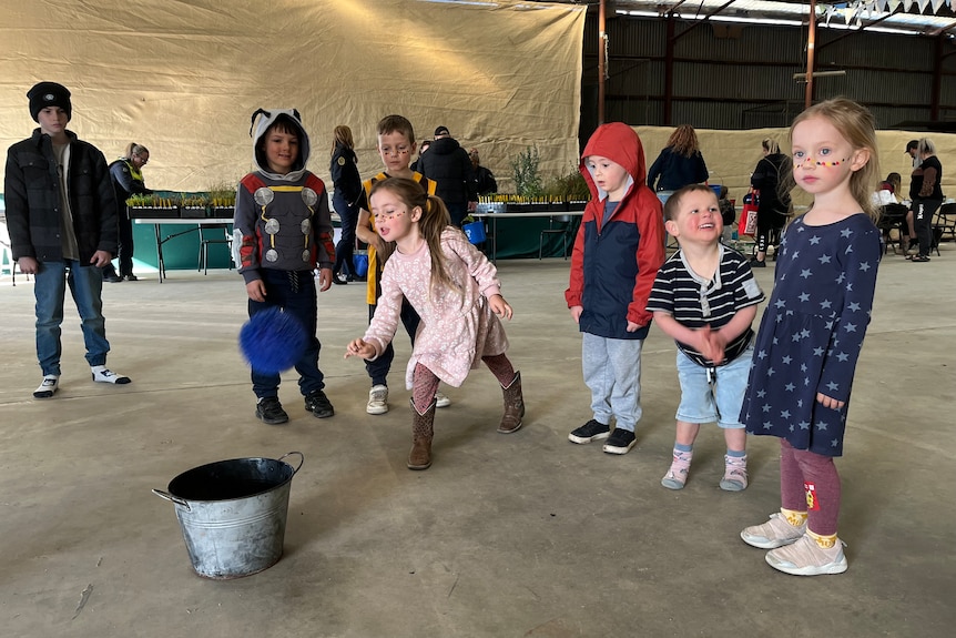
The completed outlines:
{"type": "Polygon", "coordinates": [[[27,93],[33,135],[7,152],[7,224],[13,259],[34,275],[37,357],[43,381],[33,393],[50,398],[60,384],[60,324],[67,286],[80,313],[94,382],[126,384],[106,367],[103,266],[118,249],[116,200],[106,159],[67,130],[70,91],[40,82],[27,93]]]}

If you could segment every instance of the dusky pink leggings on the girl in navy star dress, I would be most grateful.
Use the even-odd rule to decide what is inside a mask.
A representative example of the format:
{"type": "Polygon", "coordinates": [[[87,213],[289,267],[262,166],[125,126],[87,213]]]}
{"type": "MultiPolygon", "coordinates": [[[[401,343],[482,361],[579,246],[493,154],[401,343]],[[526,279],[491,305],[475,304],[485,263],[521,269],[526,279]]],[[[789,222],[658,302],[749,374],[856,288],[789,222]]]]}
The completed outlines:
{"type": "Polygon", "coordinates": [[[806,512],[814,534],[836,534],[840,516],[840,474],[832,456],[795,449],[780,439],[780,498],[784,509],[806,512]]]}

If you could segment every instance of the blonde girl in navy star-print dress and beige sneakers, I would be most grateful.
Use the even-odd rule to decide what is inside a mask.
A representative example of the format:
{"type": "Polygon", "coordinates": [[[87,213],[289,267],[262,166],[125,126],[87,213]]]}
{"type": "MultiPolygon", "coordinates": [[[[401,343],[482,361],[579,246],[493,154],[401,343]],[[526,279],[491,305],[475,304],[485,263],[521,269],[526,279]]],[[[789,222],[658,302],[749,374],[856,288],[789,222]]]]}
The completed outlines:
{"type": "Polygon", "coordinates": [[[813,204],[781,242],[741,421],[781,439],[781,510],[741,538],[799,576],[846,570],[836,537],[850,389],[883,255],[875,120],[846,99],[811,107],[790,130],[793,181],[813,204]]]}

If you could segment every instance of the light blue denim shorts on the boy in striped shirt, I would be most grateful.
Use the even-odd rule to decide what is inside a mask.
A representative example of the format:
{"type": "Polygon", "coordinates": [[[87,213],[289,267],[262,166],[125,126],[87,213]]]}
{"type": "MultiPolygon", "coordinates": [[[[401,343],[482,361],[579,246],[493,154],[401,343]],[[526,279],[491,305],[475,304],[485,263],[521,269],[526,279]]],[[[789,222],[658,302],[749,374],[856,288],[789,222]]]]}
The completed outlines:
{"type": "Polygon", "coordinates": [[[753,359],[753,346],[726,365],[706,368],[678,351],[678,378],[681,404],[678,421],[714,423],[724,428],[740,428],[740,409],[753,359]]]}

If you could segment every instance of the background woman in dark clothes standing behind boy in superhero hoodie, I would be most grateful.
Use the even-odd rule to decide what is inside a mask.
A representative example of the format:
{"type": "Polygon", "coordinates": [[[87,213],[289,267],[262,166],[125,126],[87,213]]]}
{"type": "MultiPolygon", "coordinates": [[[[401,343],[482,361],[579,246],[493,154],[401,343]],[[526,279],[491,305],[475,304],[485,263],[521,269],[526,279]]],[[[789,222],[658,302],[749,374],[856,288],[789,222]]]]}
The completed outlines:
{"type": "Polygon", "coordinates": [[[355,281],[352,257],[355,253],[355,225],[358,223],[362,176],[358,174],[358,158],[355,156],[352,129],[344,124],[333,131],[332,164],[328,172],[334,185],[332,206],[338,213],[342,224],[342,235],[335,245],[332,283],[345,284],[355,281]]]}

